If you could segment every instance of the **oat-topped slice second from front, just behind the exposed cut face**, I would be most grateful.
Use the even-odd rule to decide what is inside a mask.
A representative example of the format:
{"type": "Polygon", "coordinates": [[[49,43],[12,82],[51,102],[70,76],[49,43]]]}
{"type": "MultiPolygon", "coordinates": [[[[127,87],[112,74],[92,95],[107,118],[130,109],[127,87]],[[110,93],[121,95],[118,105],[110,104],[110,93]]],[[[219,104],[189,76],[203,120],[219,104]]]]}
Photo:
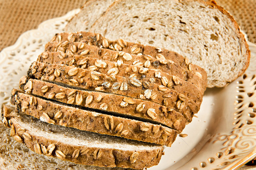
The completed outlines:
{"type": "Polygon", "coordinates": [[[71,107],[15,90],[12,93],[11,103],[15,105],[16,112],[54,125],[168,146],[177,136],[176,130],[162,125],[122,118],[99,110],[71,107]]]}

